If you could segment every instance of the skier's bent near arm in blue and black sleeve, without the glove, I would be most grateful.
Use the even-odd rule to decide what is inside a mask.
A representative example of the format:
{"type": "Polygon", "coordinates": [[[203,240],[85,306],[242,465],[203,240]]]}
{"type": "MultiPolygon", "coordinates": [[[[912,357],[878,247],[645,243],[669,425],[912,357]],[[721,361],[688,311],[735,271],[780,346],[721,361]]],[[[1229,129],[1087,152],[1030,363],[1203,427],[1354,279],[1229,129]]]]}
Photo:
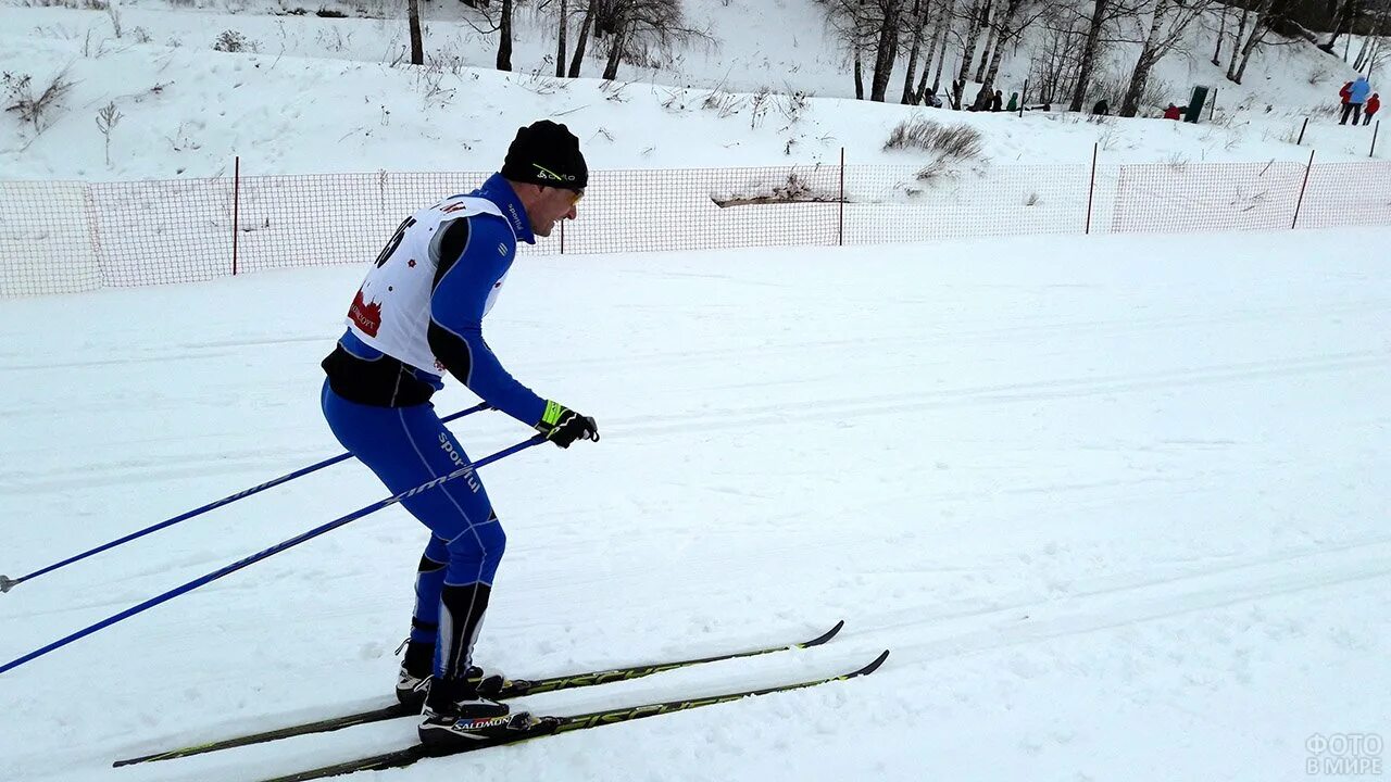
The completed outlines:
{"type": "Polygon", "coordinates": [[[488,294],[516,253],[512,230],[501,218],[476,216],[448,223],[441,231],[440,267],[430,298],[430,349],[449,374],[484,402],[536,426],[545,412],[545,399],[508,374],[483,341],[488,294]]]}

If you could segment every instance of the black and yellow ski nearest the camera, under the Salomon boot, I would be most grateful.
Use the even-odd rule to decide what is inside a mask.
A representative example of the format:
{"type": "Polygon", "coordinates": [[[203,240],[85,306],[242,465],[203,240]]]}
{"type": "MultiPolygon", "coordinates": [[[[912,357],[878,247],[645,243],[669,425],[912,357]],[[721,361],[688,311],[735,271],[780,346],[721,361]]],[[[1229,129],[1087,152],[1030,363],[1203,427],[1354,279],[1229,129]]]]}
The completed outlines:
{"type": "Polygon", "coordinates": [[[769,693],[786,693],[791,690],[800,690],[804,687],[814,687],[817,685],[825,685],[828,682],[843,682],[846,679],[854,679],[857,676],[868,676],[883,665],[887,660],[889,651],[885,650],[864,668],[858,668],[849,673],[840,673],[836,676],[826,676],[823,679],[812,679],[808,682],[797,682],[791,685],[779,685],[775,687],[764,687],[759,690],[743,690],[737,693],[727,693],[722,696],[709,696],[693,700],[672,700],[665,703],[650,703],[644,705],[632,705],[626,708],[611,708],[605,711],[591,711],[588,714],[574,714],[569,717],[538,717],[531,718],[530,722],[523,728],[515,728],[506,731],[502,735],[481,739],[477,743],[465,744],[458,749],[428,749],[423,744],[416,744],[403,750],[396,750],[391,753],[384,753],[378,756],[364,757],[359,760],[351,760],[346,763],[338,763],[334,765],[325,765],[321,768],[313,768],[309,771],[300,771],[299,774],[291,774],[288,776],[277,776],[274,779],[267,779],[264,782],[307,782],[310,779],[327,779],[330,776],[342,776],[345,774],[355,774],[357,771],[384,771],[388,768],[405,768],[415,763],[419,763],[428,757],[448,757],[453,754],[463,754],[477,750],[484,750],[488,747],[499,747],[504,744],[515,744],[517,742],[526,742],[530,739],[540,739],[542,736],[555,736],[559,733],[569,733],[573,731],[587,731],[590,728],[601,728],[604,725],[613,725],[618,722],[632,722],[633,719],[643,719],[647,717],[657,717],[658,714],[672,714],[675,711],[689,711],[691,708],[701,708],[705,705],[715,705],[719,703],[730,703],[741,700],[746,697],[765,696],[769,693]]]}

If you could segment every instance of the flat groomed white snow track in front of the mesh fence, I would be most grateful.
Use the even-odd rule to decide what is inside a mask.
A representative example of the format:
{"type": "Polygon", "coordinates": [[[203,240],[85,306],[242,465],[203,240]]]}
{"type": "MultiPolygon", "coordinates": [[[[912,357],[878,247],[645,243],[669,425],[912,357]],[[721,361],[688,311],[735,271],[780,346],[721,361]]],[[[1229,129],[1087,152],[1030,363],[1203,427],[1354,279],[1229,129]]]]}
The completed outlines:
{"type": "MultiPolygon", "coordinates": [[[[847,619],[817,650],[524,701],[565,712],[893,655],[373,778],[1266,782],[1308,778],[1310,736],[1385,736],[1383,232],[523,259],[488,340],[604,440],[485,469],[509,544],[481,662],[847,619]]],[[[7,302],[0,570],[337,452],[317,362],[359,276],[7,302]]],[[[474,456],[529,434],[453,429],[474,456]]],[[[0,661],[383,494],[349,462],[21,584],[0,661]]],[[[406,746],[410,721],[108,768],[389,699],[424,537],[383,511],[0,676],[0,779],[253,781],[406,746]]]]}

